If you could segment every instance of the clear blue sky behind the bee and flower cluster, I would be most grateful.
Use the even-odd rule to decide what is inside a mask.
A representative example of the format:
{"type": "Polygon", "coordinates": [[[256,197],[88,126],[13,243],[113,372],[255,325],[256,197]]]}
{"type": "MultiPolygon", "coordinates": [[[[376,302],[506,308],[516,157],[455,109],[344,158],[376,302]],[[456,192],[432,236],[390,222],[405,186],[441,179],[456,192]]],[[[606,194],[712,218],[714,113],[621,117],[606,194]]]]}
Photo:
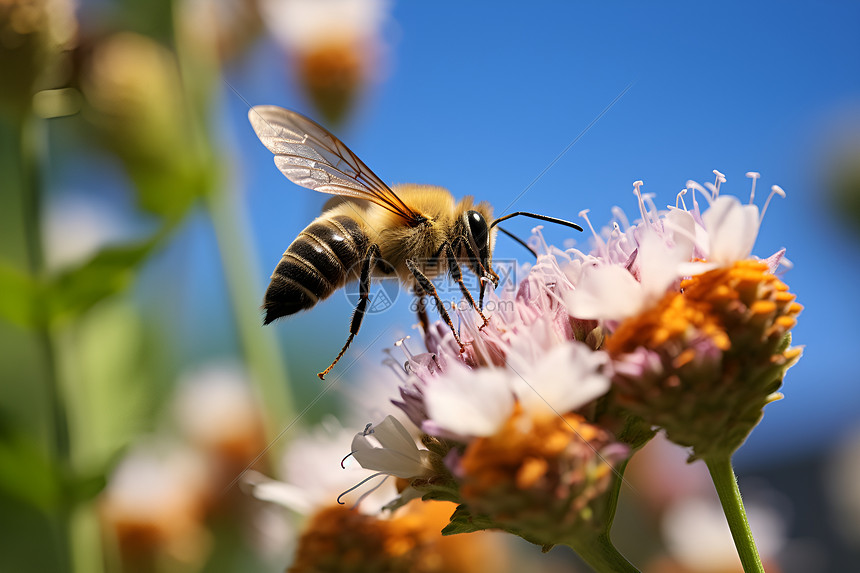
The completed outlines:
{"type": "MultiPolygon", "coordinates": [[[[658,205],[674,202],[688,179],[712,181],[713,169],[727,176],[724,193],[744,200],[747,171],[762,174],[759,201],[780,185],[788,198],[771,204],[754,253],[788,250],[795,268],[786,282],[806,307],[795,343],[806,350],[786,399],[767,408],[738,461],[819,447],[860,405],[857,236],[834,219],[822,181],[833,142],[860,126],[860,4],[644,4],[398,3],[386,26],[387,78],[338,135],[390,183],[438,184],[501,209],[629,86],[516,209],[575,219],[587,208],[602,225],[613,205],[635,218],[637,179],[658,205]]],[[[251,104],[313,115],[284,66],[264,41],[228,79],[251,104]]],[[[245,102],[226,86],[223,98],[264,285],[325,197],[283,178],[247,124],[245,102]]],[[[532,224],[509,227],[527,235],[532,224]]],[[[570,234],[546,235],[561,244],[570,234]]],[[[583,246],[587,236],[577,238],[583,246]]],[[[524,255],[499,241],[497,257],[524,255]]],[[[408,332],[407,298],[365,322],[355,345],[368,349],[363,360],[380,360],[408,332]],[[392,323],[400,327],[386,330],[392,323]]],[[[321,367],[345,340],[350,312],[334,296],[269,328],[290,348],[288,361],[312,354],[321,367]]],[[[315,372],[301,376],[313,384],[315,372]]]]}

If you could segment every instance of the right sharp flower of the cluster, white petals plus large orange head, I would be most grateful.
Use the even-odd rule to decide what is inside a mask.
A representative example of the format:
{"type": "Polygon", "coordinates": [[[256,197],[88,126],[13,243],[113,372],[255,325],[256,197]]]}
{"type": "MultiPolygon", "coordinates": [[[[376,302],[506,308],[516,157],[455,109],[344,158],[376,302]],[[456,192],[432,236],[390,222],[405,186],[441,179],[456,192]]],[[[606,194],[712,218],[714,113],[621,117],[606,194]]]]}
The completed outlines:
{"type": "MultiPolygon", "coordinates": [[[[751,176],[754,184],[757,174],[751,176]]],[[[717,184],[724,180],[718,173],[717,184]]],[[[678,249],[665,236],[656,240],[656,221],[668,214],[652,214],[638,225],[648,230],[638,233],[639,286],[629,277],[620,280],[629,300],[600,297],[597,273],[583,273],[578,286],[584,294],[568,296],[573,313],[600,319],[609,330],[604,348],[615,373],[610,410],[664,428],[672,441],[693,448],[693,458],[729,455],[740,447],[762,408],[780,397],[776,390],[785,371],[800,356],[789,348],[789,331],[802,307],[773,274],[782,253],[767,261],[748,258],[758,208],[712,188],[704,213],[695,202],[687,212],[695,222],[693,255],[704,259],[685,261],[677,255],[686,247],[678,249]],[[665,256],[673,249],[675,256],[665,256]],[[664,255],[655,256],[660,251],[664,255]],[[672,271],[658,259],[671,261],[672,271]],[[683,274],[687,278],[677,282],[683,274]]],[[[774,187],[774,193],[782,191],[774,187]]],[[[610,269],[619,279],[624,273],[616,265],[605,266],[603,274],[610,269]]]]}

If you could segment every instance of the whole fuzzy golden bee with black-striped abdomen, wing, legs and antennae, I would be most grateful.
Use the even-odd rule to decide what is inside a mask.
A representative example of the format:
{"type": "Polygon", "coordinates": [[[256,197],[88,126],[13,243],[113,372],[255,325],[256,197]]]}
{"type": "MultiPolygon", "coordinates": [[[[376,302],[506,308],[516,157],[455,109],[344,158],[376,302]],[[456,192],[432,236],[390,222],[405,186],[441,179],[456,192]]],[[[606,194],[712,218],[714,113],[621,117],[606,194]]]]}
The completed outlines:
{"type": "Polygon", "coordinates": [[[372,277],[397,277],[411,287],[419,297],[418,315],[425,329],[426,300],[433,298],[462,351],[463,343],[432,279],[450,275],[480,316],[483,328],[487,325],[482,311],[485,288],[499,283],[492,267],[498,223],[524,215],[582,231],[575,223],[534,213],[510,213],[493,220],[489,203],[475,203],[472,197],[456,201],[442,187],[389,187],[337,137],[294,111],[255,106],[248,118],[287,179],[335,195],[290,244],[272,273],[263,302],[263,323],[310,309],[347,283],[359,282],[349,337],[329,367],[318,374],[320,379],[334,368],[358,334],[372,277]],[[461,266],[480,280],[478,303],[463,282],[461,266]]]}

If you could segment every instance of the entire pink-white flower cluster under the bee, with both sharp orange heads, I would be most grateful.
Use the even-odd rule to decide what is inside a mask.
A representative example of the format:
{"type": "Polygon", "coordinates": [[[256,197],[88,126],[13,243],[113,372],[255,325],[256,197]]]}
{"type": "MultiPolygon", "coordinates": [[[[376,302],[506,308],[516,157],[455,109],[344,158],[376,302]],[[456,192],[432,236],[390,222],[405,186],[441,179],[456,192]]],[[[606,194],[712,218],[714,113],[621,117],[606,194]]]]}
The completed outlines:
{"type": "Polygon", "coordinates": [[[789,334],[801,307],[774,274],[783,251],[751,257],[758,208],[720,196],[715,173],[665,211],[635,183],[634,225],[616,211],[591,252],[544,245],[513,294],[489,296],[488,321],[461,307],[458,336],[427,327],[426,353],[398,342],[394,404],[426,450],[392,427],[379,448],[358,434],[376,457],[356,459],[459,503],[446,533],[502,529],[585,555],[608,539],[626,461],[657,429],[691,459],[730,456],[800,355],[789,334]]]}

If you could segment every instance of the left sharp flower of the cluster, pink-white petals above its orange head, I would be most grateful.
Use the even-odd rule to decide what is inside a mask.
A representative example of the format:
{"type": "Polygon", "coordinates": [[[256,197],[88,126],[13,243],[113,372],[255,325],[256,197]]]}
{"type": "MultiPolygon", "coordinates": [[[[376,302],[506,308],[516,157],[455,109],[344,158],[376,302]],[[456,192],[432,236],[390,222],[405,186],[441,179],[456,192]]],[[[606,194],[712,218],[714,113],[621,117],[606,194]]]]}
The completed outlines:
{"type": "MultiPolygon", "coordinates": [[[[441,324],[425,333],[430,353],[399,343],[408,360],[395,404],[447,468],[412,485],[461,504],[447,532],[497,528],[549,546],[607,524],[607,496],[629,449],[577,413],[594,409],[610,379],[596,323],[572,320],[565,307],[573,288],[556,255],[541,255],[515,292],[491,295],[489,324],[479,328],[477,314],[461,312],[462,354],[441,324]]],[[[414,446],[402,444],[409,468],[399,474],[399,458],[370,465],[355,457],[414,475],[414,446]]]]}

